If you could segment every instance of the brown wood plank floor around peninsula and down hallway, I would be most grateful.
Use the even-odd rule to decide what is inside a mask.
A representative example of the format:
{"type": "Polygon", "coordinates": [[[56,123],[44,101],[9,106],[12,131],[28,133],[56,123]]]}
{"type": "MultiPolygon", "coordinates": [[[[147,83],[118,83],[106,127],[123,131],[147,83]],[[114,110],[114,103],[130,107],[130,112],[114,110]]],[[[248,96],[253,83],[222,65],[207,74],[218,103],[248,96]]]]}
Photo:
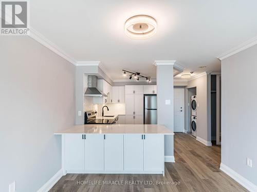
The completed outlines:
{"type": "Polygon", "coordinates": [[[67,174],[50,191],[247,191],[219,170],[220,146],[207,147],[190,135],[176,133],[174,156],[175,163],[165,163],[164,177],[133,174],[67,174]],[[123,181],[123,184],[84,184],[84,181],[123,181]],[[142,181],[142,184],[125,184],[127,181],[142,181]],[[147,181],[152,181],[153,184],[144,183],[147,181]],[[171,183],[156,184],[156,181],[171,183]]]}

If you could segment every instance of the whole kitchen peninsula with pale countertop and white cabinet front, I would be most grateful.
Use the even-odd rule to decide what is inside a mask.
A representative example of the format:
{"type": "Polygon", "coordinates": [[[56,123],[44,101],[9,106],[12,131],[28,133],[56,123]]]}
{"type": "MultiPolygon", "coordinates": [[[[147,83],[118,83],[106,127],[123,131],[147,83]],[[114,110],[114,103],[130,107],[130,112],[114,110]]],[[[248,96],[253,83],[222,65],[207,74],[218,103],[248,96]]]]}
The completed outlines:
{"type": "Polygon", "coordinates": [[[164,175],[164,135],[174,133],[156,124],[86,124],[54,135],[62,135],[63,175],[164,175]]]}

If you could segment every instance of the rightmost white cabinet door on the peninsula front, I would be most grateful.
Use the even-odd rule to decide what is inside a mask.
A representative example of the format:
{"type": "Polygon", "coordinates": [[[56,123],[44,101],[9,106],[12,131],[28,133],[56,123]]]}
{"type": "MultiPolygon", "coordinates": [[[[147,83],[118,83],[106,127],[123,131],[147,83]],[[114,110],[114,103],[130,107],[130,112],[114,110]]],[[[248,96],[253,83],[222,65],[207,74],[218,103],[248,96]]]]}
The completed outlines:
{"type": "Polygon", "coordinates": [[[161,134],[144,135],[144,170],[164,169],[164,136],[161,134]]]}

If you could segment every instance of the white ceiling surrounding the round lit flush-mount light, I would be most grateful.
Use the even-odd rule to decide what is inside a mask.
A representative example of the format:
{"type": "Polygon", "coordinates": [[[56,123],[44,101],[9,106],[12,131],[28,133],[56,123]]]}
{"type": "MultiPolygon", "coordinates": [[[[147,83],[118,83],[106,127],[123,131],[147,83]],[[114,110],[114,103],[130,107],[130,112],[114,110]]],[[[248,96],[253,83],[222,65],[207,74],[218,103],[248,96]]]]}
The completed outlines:
{"type": "Polygon", "coordinates": [[[257,35],[255,0],[44,0],[30,7],[32,28],[76,61],[101,61],[112,79],[122,79],[122,69],[155,78],[154,60],[177,60],[183,73],[220,72],[216,57],[257,35]],[[157,20],[153,37],[124,34],[124,22],[137,14],[157,20]]]}

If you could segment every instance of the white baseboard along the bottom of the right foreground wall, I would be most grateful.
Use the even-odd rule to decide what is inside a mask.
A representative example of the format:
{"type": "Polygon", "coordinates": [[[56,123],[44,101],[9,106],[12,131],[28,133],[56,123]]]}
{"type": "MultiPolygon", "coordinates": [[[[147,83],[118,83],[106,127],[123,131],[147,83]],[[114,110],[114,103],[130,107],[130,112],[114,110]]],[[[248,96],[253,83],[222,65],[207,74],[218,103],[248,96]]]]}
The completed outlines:
{"type": "Polygon", "coordinates": [[[243,176],[236,173],[233,169],[229,168],[227,165],[224,165],[221,163],[221,166],[219,167],[225,174],[227,174],[229,177],[234,179],[237,183],[241,184],[243,187],[245,187],[249,191],[257,191],[257,186],[254,185],[252,182],[244,178],[243,176]]]}

